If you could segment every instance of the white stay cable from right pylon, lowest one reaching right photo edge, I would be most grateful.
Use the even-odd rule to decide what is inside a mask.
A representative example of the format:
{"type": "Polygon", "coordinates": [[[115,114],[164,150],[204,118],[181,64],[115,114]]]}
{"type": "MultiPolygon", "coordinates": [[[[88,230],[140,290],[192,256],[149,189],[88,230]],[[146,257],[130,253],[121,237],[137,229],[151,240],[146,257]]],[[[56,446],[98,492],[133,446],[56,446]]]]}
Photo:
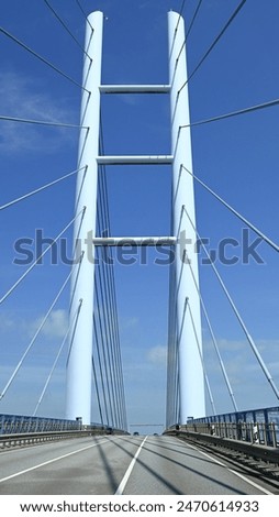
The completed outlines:
{"type": "Polygon", "coordinates": [[[265,374],[267,381],[269,382],[269,384],[270,384],[270,386],[271,386],[271,388],[272,388],[272,391],[274,391],[276,397],[279,399],[279,392],[278,392],[278,388],[277,388],[277,386],[276,386],[276,384],[275,384],[275,382],[274,382],[274,380],[272,380],[272,376],[271,376],[271,374],[269,373],[269,371],[268,371],[268,369],[267,369],[267,366],[266,366],[266,364],[265,364],[265,362],[264,362],[264,360],[263,360],[263,358],[261,358],[261,355],[260,355],[260,353],[259,353],[259,351],[258,351],[258,349],[257,349],[256,343],[254,342],[252,336],[249,334],[249,332],[248,332],[248,330],[247,330],[247,327],[246,327],[244,320],[243,320],[242,317],[241,317],[239,311],[237,310],[237,308],[236,308],[236,306],[235,306],[235,304],[234,304],[234,301],[233,301],[233,299],[232,299],[232,297],[231,297],[231,295],[230,295],[230,293],[228,293],[228,290],[227,290],[227,288],[226,288],[226,286],[225,286],[225,284],[224,284],[224,282],[223,282],[223,279],[222,279],[220,273],[217,272],[216,266],[215,266],[214,263],[212,262],[212,260],[211,260],[211,257],[210,257],[210,254],[209,254],[209,252],[208,252],[205,245],[203,244],[203,242],[202,242],[202,240],[201,240],[201,238],[200,238],[200,235],[199,235],[199,233],[198,233],[198,230],[197,230],[197,228],[194,227],[194,224],[193,224],[193,222],[192,222],[192,220],[191,220],[191,218],[190,218],[190,216],[189,216],[189,213],[188,213],[188,211],[187,211],[187,209],[186,209],[185,206],[183,206],[183,211],[185,211],[185,213],[187,215],[187,217],[188,217],[188,219],[189,219],[189,221],[190,221],[190,224],[192,226],[192,228],[193,228],[193,230],[194,230],[194,232],[196,232],[196,234],[197,234],[197,238],[199,239],[199,242],[201,243],[201,245],[202,245],[202,248],[203,248],[203,250],[204,250],[204,252],[205,252],[205,254],[207,254],[207,257],[208,257],[208,260],[209,260],[209,263],[211,264],[211,266],[212,266],[212,268],[213,268],[213,271],[214,271],[214,273],[215,273],[215,275],[216,275],[216,277],[217,277],[217,279],[219,279],[219,283],[220,283],[222,289],[224,290],[224,294],[225,294],[227,300],[230,301],[230,305],[231,305],[231,307],[232,307],[232,309],[233,309],[233,311],[234,311],[234,314],[235,314],[235,316],[236,316],[236,318],[237,318],[237,320],[238,320],[238,322],[239,322],[239,324],[241,324],[241,327],[242,327],[242,329],[243,329],[243,331],[244,331],[244,333],[245,333],[245,336],[246,336],[246,338],[247,338],[247,341],[248,341],[248,343],[249,343],[249,345],[250,345],[250,349],[252,349],[252,351],[254,352],[254,354],[255,354],[255,356],[256,356],[256,359],[257,359],[257,361],[258,361],[258,364],[259,364],[261,371],[264,372],[264,374],[265,374]]]}

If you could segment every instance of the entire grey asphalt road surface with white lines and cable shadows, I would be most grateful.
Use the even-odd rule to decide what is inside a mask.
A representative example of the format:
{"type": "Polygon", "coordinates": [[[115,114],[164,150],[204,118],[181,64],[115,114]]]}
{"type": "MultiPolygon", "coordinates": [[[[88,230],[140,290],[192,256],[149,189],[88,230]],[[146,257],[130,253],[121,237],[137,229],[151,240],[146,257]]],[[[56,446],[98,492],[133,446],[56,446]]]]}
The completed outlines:
{"type": "Polygon", "coordinates": [[[171,437],[94,437],[0,452],[0,494],[265,495],[276,483],[171,437]]]}

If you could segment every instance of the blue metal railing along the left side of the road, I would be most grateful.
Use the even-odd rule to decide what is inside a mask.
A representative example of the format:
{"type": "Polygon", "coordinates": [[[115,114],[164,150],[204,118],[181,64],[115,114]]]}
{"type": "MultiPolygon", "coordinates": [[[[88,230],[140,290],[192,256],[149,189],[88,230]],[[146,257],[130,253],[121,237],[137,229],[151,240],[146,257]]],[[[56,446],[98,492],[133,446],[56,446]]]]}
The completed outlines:
{"type": "Polygon", "coordinates": [[[0,435],[71,431],[78,429],[81,429],[81,422],[78,420],[29,417],[25,415],[0,415],[0,435]]]}

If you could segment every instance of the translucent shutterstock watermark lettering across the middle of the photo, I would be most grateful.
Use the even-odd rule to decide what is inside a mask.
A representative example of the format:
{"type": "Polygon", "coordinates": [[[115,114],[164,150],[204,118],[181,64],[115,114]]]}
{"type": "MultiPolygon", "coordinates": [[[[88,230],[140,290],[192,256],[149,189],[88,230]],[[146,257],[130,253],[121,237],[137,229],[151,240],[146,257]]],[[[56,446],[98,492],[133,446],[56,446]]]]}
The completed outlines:
{"type": "MultiPolygon", "coordinates": [[[[107,235],[108,232],[104,232],[107,235]]],[[[115,263],[132,266],[134,264],[147,265],[154,263],[157,265],[170,265],[175,262],[176,253],[182,263],[191,262],[193,253],[200,256],[201,265],[209,265],[211,263],[220,262],[223,265],[233,266],[236,264],[249,264],[252,262],[263,265],[265,261],[260,255],[260,244],[263,239],[253,238],[247,228],[243,228],[239,239],[226,237],[221,239],[217,244],[211,244],[210,238],[197,239],[194,242],[187,239],[186,232],[181,232],[177,240],[177,245],[169,245],[166,243],[155,243],[153,253],[149,253],[149,239],[146,242],[143,239],[141,245],[136,240],[123,240],[113,246],[113,252],[110,246],[94,246],[92,240],[92,232],[88,232],[87,238],[82,242],[77,240],[75,251],[72,254],[71,244],[67,238],[60,238],[56,241],[53,238],[46,237],[42,229],[36,229],[34,238],[20,238],[16,239],[13,245],[15,256],[13,264],[16,265],[31,265],[36,262],[43,265],[46,261],[52,265],[60,263],[67,265],[78,264],[83,254],[85,258],[92,264],[100,264],[103,262],[108,265],[115,263]],[[97,249],[97,250],[96,250],[97,249]]]]}

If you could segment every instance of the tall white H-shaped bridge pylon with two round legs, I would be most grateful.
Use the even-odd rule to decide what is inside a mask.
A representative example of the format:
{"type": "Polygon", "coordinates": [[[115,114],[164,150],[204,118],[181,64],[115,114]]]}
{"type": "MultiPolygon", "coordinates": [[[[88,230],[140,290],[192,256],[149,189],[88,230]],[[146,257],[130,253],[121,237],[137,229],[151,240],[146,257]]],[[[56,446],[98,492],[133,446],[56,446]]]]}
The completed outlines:
{"type": "Polygon", "coordinates": [[[193,179],[182,173],[182,166],[192,170],[191,136],[188,125],[189,101],[187,87],[187,64],[185,48],[183,19],[176,12],[169,12],[169,84],[168,85],[101,85],[102,29],[103,14],[96,11],[88,16],[86,29],[86,56],[83,64],[83,90],[81,101],[80,130],[77,179],[76,213],[81,213],[74,230],[74,242],[81,243],[81,260],[74,264],[71,283],[70,320],[72,332],[69,339],[69,358],[67,363],[67,403],[66,418],[81,417],[83,424],[91,422],[91,375],[92,375],[92,314],[94,264],[86,253],[88,237],[92,245],[158,245],[164,243],[176,248],[177,285],[176,314],[179,336],[179,407],[180,422],[189,416],[205,415],[204,381],[202,369],[202,339],[198,258],[196,253],[196,209],[193,179]],[[91,59],[90,59],[91,57],[91,59]],[[185,85],[185,86],[183,86],[185,85]],[[181,88],[183,86],[183,88],[181,88]],[[171,155],[163,156],[99,156],[100,135],[100,99],[101,95],[121,94],[157,94],[169,95],[171,111],[171,155]],[[169,237],[127,237],[97,238],[97,187],[98,166],[105,165],[172,165],[172,235],[169,237]],[[186,216],[186,210],[187,215],[186,216]],[[192,222],[192,224],[191,224],[192,222]],[[187,246],[186,246],[187,242],[187,246]],[[186,246],[186,249],[185,249],[186,246]],[[187,260],[191,261],[191,268],[187,260]],[[183,261],[186,262],[183,264],[183,261]],[[80,306],[77,321],[77,308],[80,306]],[[188,307],[191,310],[188,310],[188,307]],[[192,317],[192,318],[191,318],[192,317]],[[192,323],[194,321],[194,326],[192,323]]]}

